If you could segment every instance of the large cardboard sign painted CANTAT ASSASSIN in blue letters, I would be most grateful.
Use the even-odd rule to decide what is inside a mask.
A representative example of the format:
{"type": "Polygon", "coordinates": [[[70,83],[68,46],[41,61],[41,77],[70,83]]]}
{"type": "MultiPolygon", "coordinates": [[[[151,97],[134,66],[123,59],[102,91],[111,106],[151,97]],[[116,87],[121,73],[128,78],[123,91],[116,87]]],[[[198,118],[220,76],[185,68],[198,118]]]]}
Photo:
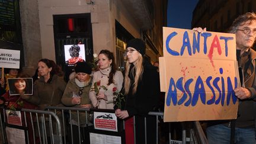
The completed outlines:
{"type": "Polygon", "coordinates": [[[164,121],[236,119],[235,34],[164,27],[159,57],[164,121]]]}

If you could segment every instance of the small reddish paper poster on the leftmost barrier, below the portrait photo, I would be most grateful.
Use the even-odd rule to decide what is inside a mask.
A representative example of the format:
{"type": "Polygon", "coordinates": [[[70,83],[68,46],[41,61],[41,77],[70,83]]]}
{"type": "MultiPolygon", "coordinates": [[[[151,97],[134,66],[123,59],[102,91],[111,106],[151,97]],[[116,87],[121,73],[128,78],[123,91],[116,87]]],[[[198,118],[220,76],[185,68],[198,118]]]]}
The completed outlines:
{"type": "Polygon", "coordinates": [[[5,113],[7,114],[7,123],[8,124],[14,124],[14,125],[17,125],[17,126],[22,126],[21,112],[20,111],[5,110],[5,113]]]}

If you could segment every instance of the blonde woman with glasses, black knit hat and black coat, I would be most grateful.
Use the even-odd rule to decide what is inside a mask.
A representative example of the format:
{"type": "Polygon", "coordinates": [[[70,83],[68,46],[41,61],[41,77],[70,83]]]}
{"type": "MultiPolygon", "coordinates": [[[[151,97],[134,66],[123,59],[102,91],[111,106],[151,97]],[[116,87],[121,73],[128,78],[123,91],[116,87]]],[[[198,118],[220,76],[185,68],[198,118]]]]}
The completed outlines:
{"type": "Polygon", "coordinates": [[[134,143],[133,116],[136,123],[136,143],[156,143],[156,117],[148,116],[148,113],[158,105],[159,75],[157,68],[143,59],[145,52],[145,43],[142,40],[132,39],[127,43],[124,77],[126,101],[123,110],[115,106],[116,116],[125,120],[126,143],[134,143]]]}

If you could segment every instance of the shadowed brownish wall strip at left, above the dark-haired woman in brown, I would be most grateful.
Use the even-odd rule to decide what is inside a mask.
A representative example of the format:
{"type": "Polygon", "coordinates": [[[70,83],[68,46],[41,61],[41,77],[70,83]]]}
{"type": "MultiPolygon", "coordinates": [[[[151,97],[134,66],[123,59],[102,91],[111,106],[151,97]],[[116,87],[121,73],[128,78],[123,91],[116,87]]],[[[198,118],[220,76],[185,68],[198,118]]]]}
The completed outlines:
{"type": "Polygon", "coordinates": [[[20,15],[25,61],[23,70],[32,76],[42,57],[37,0],[20,1],[20,15]]]}

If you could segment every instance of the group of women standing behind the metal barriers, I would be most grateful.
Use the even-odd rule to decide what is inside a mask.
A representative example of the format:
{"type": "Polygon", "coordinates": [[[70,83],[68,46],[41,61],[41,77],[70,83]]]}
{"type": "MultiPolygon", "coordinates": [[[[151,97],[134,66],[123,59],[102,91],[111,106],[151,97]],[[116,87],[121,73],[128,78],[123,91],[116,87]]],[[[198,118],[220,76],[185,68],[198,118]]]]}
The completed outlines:
{"type": "MultiPolygon", "coordinates": [[[[133,116],[138,116],[139,122],[143,121],[143,116],[146,116],[149,111],[152,111],[158,104],[159,94],[159,74],[157,68],[151,63],[143,59],[145,55],[145,43],[140,39],[133,39],[128,42],[127,45],[127,71],[125,76],[120,71],[117,71],[114,55],[109,50],[101,50],[97,60],[97,71],[92,73],[92,68],[87,62],[77,62],[74,66],[74,73],[69,76],[68,84],[64,81],[63,72],[60,66],[57,66],[53,60],[40,59],[37,63],[37,69],[33,78],[33,94],[26,94],[24,89],[28,87],[28,84],[24,84],[25,81],[20,78],[24,78],[23,72],[19,69],[5,69],[8,73],[4,78],[1,78],[1,95],[5,98],[5,101],[9,101],[7,107],[13,106],[13,103],[24,101],[24,105],[20,105],[19,108],[33,108],[38,110],[44,110],[47,106],[66,106],[66,107],[80,107],[80,108],[103,108],[103,109],[116,109],[117,117],[120,119],[127,119],[127,130],[133,127],[133,116]],[[19,76],[21,74],[21,76],[19,76]],[[9,78],[19,78],[17,85],[20,87],[17,91],[17,95],[9,95],[9,78]],[[154,78],[154,82],[152,82],[154,78]],[[123,84],[123,81],[124,84],[123,84]],[[148,82],[143,82],[148,81],[148,82]],[[149,82],[151,81],[151,82],[149,82]],[[124,85],[124,88],[123,88],[124,85]],[[123,88],[123,91],[121,89],[123,88]],[[146,91],[144,93],[144,91],[146,91]],[[123,100],[123,108],[114,107],[115,98],[117,94],[124,93],[125,99],[123,100]],[[127,103],[124,104],[124,101],[127,103]],[[124,116],[123,116],[124,114],[124,116]],[[129,125],[130,124],[130,125],[129,125]]],[[[25,75],[25,77],[30,77],[25,75]]],[[[11,84],[11,83],[10,83],[11,84]]],[[[122,94],[123,95],[123,94],[122,94]]],[[[78,117],[76,113],[71,113],[72,119],[68,120],[68,123],[72,123],[73,142],[79,143],[78,139],[78,117]]],[[[88,116],[89,117],[89,116],[88,116]]],[[[155,118],[151,118],[154,120],[155,118]]],[[[151,121],[152,121],[151,120],[151,121]]],[[[81,132],[85,132],[88,124],[85,124],[85,113],[80,113],[79,122],[81,132]]],[[[153,122],[153,121],[152,121],[153,122]]],[[[148,123],[152,124],[152,123],[148,123]]],[[[91,123],[92,125],[92,123],[91,123]]],[[[136,127],[136,130],[142,129],[136,127]]],[[[129,131],[132,132],[132,131],[129,131]]],[[[129,132],[126,132],[127,134],[129,132]]],[[[139,131],[138,131],[139,132],[139,131]]],[[[155,130],[150,130],[155,133],[155,130]]],[[[145,132],[143,132],[145,133],[145,132]]],[[[139,134],[139,133],[138,133],[139,134]]],[[[68,134],[71,135],[71,133],[68,134]]],[[[88,135],[81,133],[83,136],[82,143],[88,142],[88,135]],[[85,140],[87,139],[87,140],[85,140]]],[[[127,143],[132,143],[130,136],[133,133],[127,135],[127,143]]],[[[33,137],[31,137],[33,138],[33,137]]],[[[48,137],[49,138],[49,137],[48,137]]],[[[137,139],[137,142],[143,142],[143,137],[137,139]]],[[[30,140],[33,142],[33,139],[30,140]]],[[[71,142],[71,137],[69,137],[71,142]]],[[[149,142],[155,142],[149,140],[149,142]]]]}

